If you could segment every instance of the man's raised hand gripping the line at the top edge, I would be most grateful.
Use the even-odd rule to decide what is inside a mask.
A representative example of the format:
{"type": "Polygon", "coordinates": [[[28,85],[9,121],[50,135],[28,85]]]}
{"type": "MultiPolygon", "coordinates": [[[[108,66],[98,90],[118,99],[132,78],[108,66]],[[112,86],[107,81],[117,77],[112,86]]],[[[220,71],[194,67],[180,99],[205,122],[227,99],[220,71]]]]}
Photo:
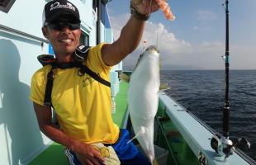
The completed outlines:
{"type": "Polygon", "coordinates": [[[149,15],[149,13],[159,10],[159,5],[154,0],[131,0],[131,5],[135,7],[137,12],[143,15],[149,15]]]}

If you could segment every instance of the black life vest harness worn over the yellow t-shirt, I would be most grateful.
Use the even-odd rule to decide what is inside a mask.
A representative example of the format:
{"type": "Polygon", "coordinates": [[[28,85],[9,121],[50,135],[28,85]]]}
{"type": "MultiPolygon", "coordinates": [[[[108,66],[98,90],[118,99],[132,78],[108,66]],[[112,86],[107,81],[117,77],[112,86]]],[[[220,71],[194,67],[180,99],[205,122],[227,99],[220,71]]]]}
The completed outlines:
{"type": "Polygon", "coordinates": [[[107,87],[111,87],[111,83],[106,81],[105,79],[101,78],[97,73],[92,72],[90,68],[85,66],[83,62],[88,57],[88,52],[90,50],[90,46],[80,45],[76,48],[76,50],[73,52],[73,57],[75,59],[74,62],[70,63],[58,63],[53,55],[50,54],[41,54],[37,57],[40,64],[43,66],[50,64],[50,72],[47,73],[47,82],[45,87],[45,99],[44,99],[44,105],[45,106],[52,106],[51,103],[51,92],[53,89],[53,82],[54,82],[54,72],[53,70],[55,68],[79,68],[78,69],[78,76],[83,76],[84,73],[87,73],[89,76],[91,76],[93,79],[95,79],[97,82],[102,83],[103,85],[106,85],[107,87]]]}

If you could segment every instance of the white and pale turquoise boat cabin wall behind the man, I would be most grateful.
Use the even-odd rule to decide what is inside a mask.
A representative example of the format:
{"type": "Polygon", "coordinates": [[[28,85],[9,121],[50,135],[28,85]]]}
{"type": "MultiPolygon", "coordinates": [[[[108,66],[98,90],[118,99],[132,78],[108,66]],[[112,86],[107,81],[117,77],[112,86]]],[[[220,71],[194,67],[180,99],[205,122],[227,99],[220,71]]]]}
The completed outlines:
{"type": "MultiPolygon", "coordinates": [[[[0,2],[0,164],[27,164],[52,143],[40,132],[29,99],[31,77],[41,68],[36,57],[53,53],[41,32],[46,2],[49,0],[0,2]]],[[[83,31],[81,43],[97,45],[97,19],[102,18],[98,18],[94,2],[70,2],[80,12],[83,31]]],[[[105,4],[102,16],[105,21],[99,24],[100,41],[112,42],[105,4]]],[[[111,72],[115,73],[116,69],[121,68],[114,68],[111,72]]]]}

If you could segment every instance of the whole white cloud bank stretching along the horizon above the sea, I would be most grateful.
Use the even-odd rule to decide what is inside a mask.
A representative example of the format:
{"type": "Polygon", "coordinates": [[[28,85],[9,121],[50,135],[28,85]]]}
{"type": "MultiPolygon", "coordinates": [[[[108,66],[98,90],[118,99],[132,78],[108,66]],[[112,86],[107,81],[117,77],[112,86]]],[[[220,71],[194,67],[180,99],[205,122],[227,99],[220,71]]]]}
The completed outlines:
{"type": "MultiPolygon", "coordinates": [[[[110,17],[115,39],[120,35],[121,28],[125,26],[129,17],[130,14],[128,13],[110,17]]],[[[140,45],[132,54],[124,59],[124,65],[136,64],[139,54],[143,51],[143,40],[147,41],[146,46],[159,45],[162,59],[164,59],[162,61],[163,65],[187,65],[204,69],[225,68],[224,61],[221,59],[221,55],[225,54],[225,41],[205,41],[200,44],[194,44],[187,40],[178,39],[173,32],[168,31],[162,23],[155,24],[151,21],[146,23],[145,32],[140,45]]],[[[245,68],[255,68],[254,60],[250,59],[254,58],[253,56],[256,49],[230,45],[230,50],[232,52],[230,68],[244,68],[244,64],[246,64],[245,68]]]]}

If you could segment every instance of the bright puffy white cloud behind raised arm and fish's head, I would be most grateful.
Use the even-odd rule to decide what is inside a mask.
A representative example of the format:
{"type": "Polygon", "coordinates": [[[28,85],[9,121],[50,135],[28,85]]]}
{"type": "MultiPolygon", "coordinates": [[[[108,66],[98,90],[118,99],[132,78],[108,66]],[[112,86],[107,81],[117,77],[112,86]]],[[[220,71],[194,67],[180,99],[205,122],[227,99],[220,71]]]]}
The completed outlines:
{"type": "MultiPolygon", "coordinates": [[[[115,39],[119,37],[121,28],[125,26],[129,17],[130,14],[110,17],[111,27],[115,39]]],[[[139,54],[141,54],[143,51],[144,40],[146,40],[146,47],[149,45],[159,45],[159,50],[164,58],[171,54],[185,54],[191,50],[191,44],[189,42],[185,40],[178,40],[172,32],[166,29],[163,24],[155,24],[151,21],[147,21],[140,45],[130,56],[126,57],[124,60],[125,64],[136,63],[139,54]]]]}

